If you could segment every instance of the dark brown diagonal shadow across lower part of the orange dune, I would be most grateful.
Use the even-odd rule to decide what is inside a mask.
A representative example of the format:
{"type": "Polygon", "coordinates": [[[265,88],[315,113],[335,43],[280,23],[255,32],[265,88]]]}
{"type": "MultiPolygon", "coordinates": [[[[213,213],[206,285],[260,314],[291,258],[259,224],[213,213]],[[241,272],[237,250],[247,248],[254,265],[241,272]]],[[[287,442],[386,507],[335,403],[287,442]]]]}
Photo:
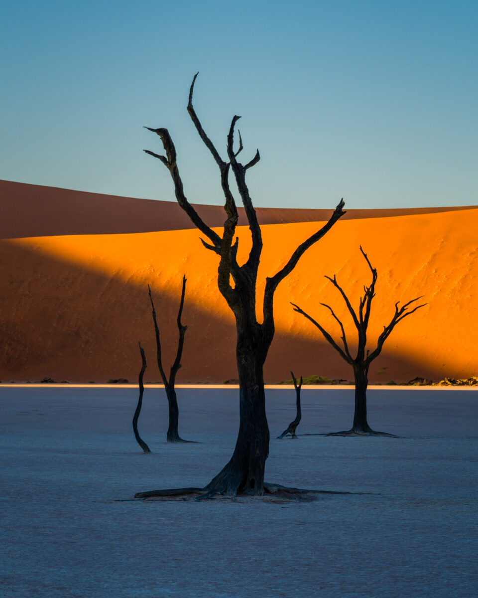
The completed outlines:
{"type": "MultiPolygon", "coordinates": [[[[182,273],[180,273],[182,275],[182,273]]],[[[186,273],[187,275],[187,273],[186,273]]],[[[40,380],[45,376],[70,382],[106,382],[127,378],[136,382],[146,351],[145,382],[157,382],[154,329],[146,278],[143,284],[125,282],[57,260],[41,251],[0,243],[0,379],[40,380]]],[[[163,339],[164,364],[174,359],[176,316],[180,297],[153,289],[163,339]]],[[[183,322],[188,325],[183,367],[177,382],[223,382],[237,379],[235,324],[188,301],[183,322]]],[[[387,353],[376,360],[386,364],[370,382],[433,380],[442,376],[418,361],[387,353]]],[[[352,378],[350,367],[323,342],[276,332],[265,365],[265,380],[277,383],[293,370],[332,379],[352,378]]],[[[458,376],[451,372],[449,375],[458,376]]]]}

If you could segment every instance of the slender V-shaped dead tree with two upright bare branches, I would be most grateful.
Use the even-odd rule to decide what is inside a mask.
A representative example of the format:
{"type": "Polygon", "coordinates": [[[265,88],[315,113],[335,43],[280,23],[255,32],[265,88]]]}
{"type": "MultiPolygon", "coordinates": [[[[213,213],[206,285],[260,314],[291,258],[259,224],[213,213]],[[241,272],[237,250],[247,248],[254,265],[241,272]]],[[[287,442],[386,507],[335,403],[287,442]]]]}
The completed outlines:
{"type": "Polygon", "coordinates": [[[184,295],[186,292],[186,276],[183,276],[183,286],[181,290],[181,301],[179,303],[179,312],[177,313],[177,328],[179,329],[179,342],[177,343],[177,353],[176,359],[174,359],[173,365],[171,365],[169,378],[166,376],[166,372],[163,368],[163,361],[161,359],[161,339],[160,339],[160,329],[158,328],[158,322],[156,319],[156,310],[154,309],[153,298],[151,296],[151,288],[148,285],[148,292],[149,292],[149,300],[151,301],[152,313],[153,313],[153,322],[154,322],[154,331],[156,334],[156,347],[157,347],[157,355],[158,355],[158,368],[160,370],[161,378],[163,379],[164,383],[164,390],[166,390],[166,396],[168,399],[168,408],[169,408],[169,425],[168,431],[166,435],[166,440],[168,443],[188,443],[191,442],[190,440],[183,440],[179,436],[179,432],[177,431],[177,426],[179,423],[179,407],[177,407],[177,397],[176,397],[176,389],[174,388],[174,384],[176,383],[176,374],[179,368],[181,367],[181,356],[183,352],[183,345],[184,345],[184,335],[186,333],[187,326],[183,326],[181,324],[181,314],[183,312],[183,305],[184,305],[184,295]]]}

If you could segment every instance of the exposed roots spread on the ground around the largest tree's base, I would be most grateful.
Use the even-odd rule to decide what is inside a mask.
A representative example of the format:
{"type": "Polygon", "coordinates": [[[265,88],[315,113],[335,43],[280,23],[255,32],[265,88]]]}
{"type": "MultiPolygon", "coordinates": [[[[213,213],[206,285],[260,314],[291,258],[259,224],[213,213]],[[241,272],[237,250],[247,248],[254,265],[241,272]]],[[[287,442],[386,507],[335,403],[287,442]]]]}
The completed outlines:
{"type": "Polygon", "coordinates": [[[154,501],[204,501],[207,499],[229,498],[234,501],[236,498],[263,499],[269,502],[281,501],[302,501],[310,502],[317,500],[318,494],[336,494],[336,495],[363,495],[369,492],[341,492],[335,490],[310,490],[306,488],[295,488],[283,486],[282,484],[264,483],[264,493],[262,495],[252,492],[219,492],[218,489],[204,488],[171,488],[167,490],[149,490],[149,492],[138,492],[133,499],[154,500],[154,501]]]}

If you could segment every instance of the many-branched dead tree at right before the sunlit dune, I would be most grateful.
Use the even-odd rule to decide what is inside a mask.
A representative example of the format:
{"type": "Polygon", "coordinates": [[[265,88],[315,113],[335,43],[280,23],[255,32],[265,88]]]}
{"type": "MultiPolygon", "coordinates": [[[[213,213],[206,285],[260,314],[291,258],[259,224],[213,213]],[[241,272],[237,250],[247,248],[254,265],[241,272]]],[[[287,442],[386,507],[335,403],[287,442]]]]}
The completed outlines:
{"type": "MultiPolygon", "coordinates": [[[[367,254],[363,251],[360,247],[361,254],[365,258],[370,271],[372,272],[372,282],[369,286],[364,286],[364,295],[360,298],[359,303],[359,313],[357,314],[353,307],[351,306],[350,301],[348,300],[347,295],[345,294],[342,287],[338,284],[336,280],[336,276],[334,275],[333,278],[326,276],[327,279],[332,282],[333,286],[340,292],[342,298],[345,301],[345,305],[347,306],[350,315],[354,321],[355,327],[357,328],[357,332],[359,333],[359,341],[357,346],[357,355],[356,357],[352,357],[350,353],[350,349],[348,346],[347,338],[345,337],[345,329],[342,322],[333,312],[332,307],[326,305],[325,303],[321,303],[322,306],[326,307],[330,313],[332,313],[333,318],[338,322],[342,336],[341,340],[344,344],[344,348],[340,347],[335,340],[333,340],[332,336],[327,332],[320,324],[318,324],[310,315],[305,313],[300,307],[296,306],[292,303],[294,307],[294,311],[301,313],[305,318],[309,319],[312,324],[314,324],[320,332],[323,334],[324,338],[332,345],[332,347],[341,355],[348,364],[353,367],[354,370],[354,377],[355,377],[355,411],[354,411],[354,423],[350,430],[344,432],[334,432],[334,435],[387,435],[391,436],[391,434],[385,434],[385,432],[374,432],[368,422],[367,422],[367,385],[368,385],[368,373],[370,363],[379,356],[382,347],[384,346],[385,340],[387,340],[390,332],[396,327],[396,325],[406,318],[407,316],[412,315],[413,312],[416,312],[417,309],[420,307],[424,307],[426,303],[414,307],[412,310],[409,310],[409,306],[415,301],[418,301],[422,297],[416,297],[408,303],[405,303],[402,307],[399,307],[400,301],[397,301],[395,304],[395,313],[393,318],[390,321],[390,324],[384,326],[383,332],[379,335],[377,345],[372,352],[369,349],[366,349],[367,345],[367,327],[369,325],[369,318],[370,318],[370,310],[372,308],[372,300],[375,297],[375,283],[377,280],[377,271],[375,268],[372,267],[370,264],[369,258],[367,258],[367,254]]],[[[422,295],[423,296],[423,295],[422,295]]]]}

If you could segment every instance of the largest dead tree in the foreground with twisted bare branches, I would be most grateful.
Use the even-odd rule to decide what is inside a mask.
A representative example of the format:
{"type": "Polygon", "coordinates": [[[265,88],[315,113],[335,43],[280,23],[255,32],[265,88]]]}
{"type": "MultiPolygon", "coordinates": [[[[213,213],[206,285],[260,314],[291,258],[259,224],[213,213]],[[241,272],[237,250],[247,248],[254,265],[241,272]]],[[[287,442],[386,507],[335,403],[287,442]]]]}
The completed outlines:
{"type": "MultiPolygon", "coordinates": [[[[344,201],[341,200],[327,224],[299,245],[280,271],[266,279],[262,306],[263,321],[259,323],[256,318],[256,280],[262,252],[262,236],[246,184],[247,170],[258,163],[260,158],[259,151],[256,151],[252,160],[246,164],[241,164],[237,161],[237,156],[243,149],[243,143],[239,133],[239,147],[237,151],[234,150],[234,129],[235,124],[240,118],[234,116],[227,136],[226,148],[228,158],[225,161],[220,157],[215,145],[213,145],[213,142],[206,135],[192,106],[192,93],[196,77],[197,74],[194,76],[191,88],[189,89],[188,112],[201,140],[209,149],[219,167],[220,184],[225,197],[224,209],[226,212],[226,221],[224,222],[222,236],[212,230],[200,218],[193,206],[186,199],[177,167],[176,149],[168,130],[146,127],[146,129],[160,136],[166,155],[155,154],[155,152],[149,150],[145,151],[147,154],[161,160],[164,166],[167,167],[173,179],[177,202],[207,238],[207,241],[201,239],[204,247],[219,256],[217,286],[232,313],[234,313],[237,326],[236,356],[240,383],[240,426],[237,442],[229,462],[204,487],[203,492],[207,496],[217,493],[233,496],[237,493],[262,495],[265,490],[270,489],[270,486],[268,487],[264,483],[265,462],[269,454],[269,427],[265,413],[263,364],[272,338],[274,337],[274,315],[272,311],[274,293],[281,280],[295,268],[302,254],[313,243],[321,239],[345,213],[342,210],[344,208],[344,201]],[[234,173],[252,235],[252,248],[250,249],[249,257],[241,265],[237,261],[238,237],[234,240],[238,212],[235,199],[229,187],[229,171],[231,169],[234,173]]],[[[277,491],[277,485],[274,488],[274,491],[277,491]]],[[[137,496],[146,498],[153,495],[151,493],[140,493],[137,496]]]]}

